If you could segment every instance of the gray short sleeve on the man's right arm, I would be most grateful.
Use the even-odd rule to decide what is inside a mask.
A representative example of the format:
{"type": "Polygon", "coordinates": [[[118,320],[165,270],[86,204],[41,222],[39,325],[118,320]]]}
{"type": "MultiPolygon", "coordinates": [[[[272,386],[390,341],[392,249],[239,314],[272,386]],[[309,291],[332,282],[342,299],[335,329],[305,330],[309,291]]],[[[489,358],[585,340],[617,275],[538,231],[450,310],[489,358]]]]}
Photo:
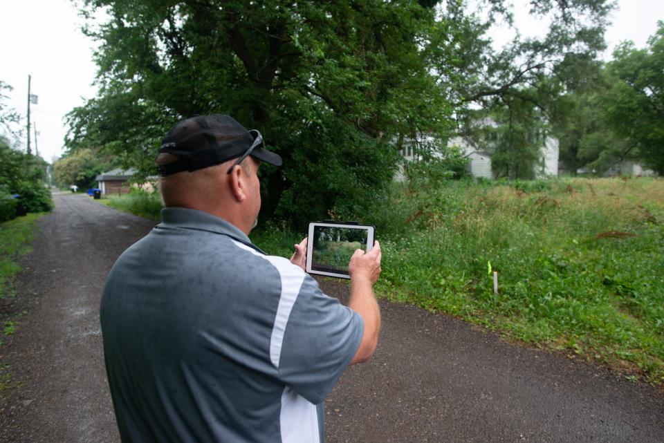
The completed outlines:
{"type": "Polygon", "coordinates": [[[364,322],[305,276],[286,323],[279,379],[313,404],[323,402],[355,356],[364,322]]]}

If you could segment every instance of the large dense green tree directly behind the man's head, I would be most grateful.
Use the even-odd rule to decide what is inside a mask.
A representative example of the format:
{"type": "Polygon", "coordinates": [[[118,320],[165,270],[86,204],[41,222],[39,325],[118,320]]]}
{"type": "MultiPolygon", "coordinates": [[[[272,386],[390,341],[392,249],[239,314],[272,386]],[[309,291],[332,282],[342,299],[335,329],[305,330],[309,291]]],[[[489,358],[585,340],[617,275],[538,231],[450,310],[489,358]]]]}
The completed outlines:
{"type": "MultiPolygon", "coordinates": [[[[228,113],[264,134],[264,214],[358,214],[396,169],[399,134],[450,128],[429,59],[456,23],[432,2],[88,0],[100,95],[69,115],[72,151],[100,146],[144,175],[176,120],[228,113]],[[434,47],[435,46],[435,47],[434,47]]],[[[371,202],[371,203],[370,203],[371,202]]]]}

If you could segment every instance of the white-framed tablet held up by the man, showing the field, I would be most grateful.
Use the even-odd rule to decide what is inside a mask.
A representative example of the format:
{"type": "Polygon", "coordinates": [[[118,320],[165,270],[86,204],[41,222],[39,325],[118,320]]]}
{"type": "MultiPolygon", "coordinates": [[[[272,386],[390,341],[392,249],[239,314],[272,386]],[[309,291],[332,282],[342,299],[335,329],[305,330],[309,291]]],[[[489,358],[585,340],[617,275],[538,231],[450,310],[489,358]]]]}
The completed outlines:
{"type": "Polygon", "coordinates": [[[358,223],[311,222],[306,242],[306,272],[350,279],[348,265],[356,249],[369,252],[375,228],[358,223]]]}

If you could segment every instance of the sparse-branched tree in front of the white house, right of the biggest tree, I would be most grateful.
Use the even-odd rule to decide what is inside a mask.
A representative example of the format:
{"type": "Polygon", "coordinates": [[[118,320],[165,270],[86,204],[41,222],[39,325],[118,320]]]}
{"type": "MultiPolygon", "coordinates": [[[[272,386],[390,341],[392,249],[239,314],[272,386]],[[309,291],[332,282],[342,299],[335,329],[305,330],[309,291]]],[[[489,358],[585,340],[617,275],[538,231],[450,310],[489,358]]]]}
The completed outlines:
{"type": "MultiPolygon", "coordinates": [[[[603,33],[612,4],[605,0],[534,0],[531,15],[548,20],[543,38],[517,34],[505,48],[494,51],[487,30],[499,17],[512,22],[505,3],[488,1],[486,19],[451,2],[450,13],[468,23],[459,56],[452,59],[450,84],[457,103],[460,133],[482,144],[487,128],[478,120],[490,116],[497,127],[492,167],[499,176],[528,178],[540,160],[543,135],[564,135],[568,123],[569,93],[589,91],[600,71],[598,51],[605,48],[603,33]],[[478,113],[477,109],[481,109],[478,113]]],[[[483,146],[486,149],[485,146],[483,146]]]]}

